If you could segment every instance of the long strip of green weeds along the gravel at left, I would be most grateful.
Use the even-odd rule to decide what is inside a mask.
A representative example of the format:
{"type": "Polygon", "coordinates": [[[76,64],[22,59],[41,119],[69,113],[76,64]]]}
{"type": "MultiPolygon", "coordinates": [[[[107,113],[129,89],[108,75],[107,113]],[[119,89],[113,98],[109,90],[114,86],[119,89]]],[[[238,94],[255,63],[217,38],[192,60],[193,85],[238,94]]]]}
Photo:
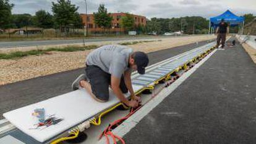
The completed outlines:
{"type": "Polygon", "coordinates": [[[91,46],[67,46],[65,48],[49,48],[49,49],[37,49],[37,50],[31,50],[31,51],[16,51],[14,53],[9,54],[0,54],[0,59],[15,59],[25,56],[32,56],[36,55],[39,56],[41,54],[46,54],[50,51],[61,51],[61,52],[74,52],[74,51],[85,51],[88,49],[95,49],[98,48],[96,45],[91,46]]]}

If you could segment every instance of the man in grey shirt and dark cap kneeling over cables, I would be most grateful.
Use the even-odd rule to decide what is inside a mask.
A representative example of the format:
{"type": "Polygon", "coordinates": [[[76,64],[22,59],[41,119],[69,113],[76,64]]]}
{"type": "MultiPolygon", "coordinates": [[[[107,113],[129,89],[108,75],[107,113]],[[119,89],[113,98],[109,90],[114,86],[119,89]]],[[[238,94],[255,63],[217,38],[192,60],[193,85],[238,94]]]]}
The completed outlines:
{"type": "Polygon", "coordinates": [[[148,65],[147,54],[132,51],[121,45],[106,45],[88,54],[85,74],[80,75],[73,83],[73,90],[85,88],[96,101],[109,100],[109,85],[122,103],[137,107],[140,98],[135,96],[132,88],[131,73],[137,70],[145,74],[148,65]],[[130,92],[132,100],[127,100],[123,93],[130,92]]]}

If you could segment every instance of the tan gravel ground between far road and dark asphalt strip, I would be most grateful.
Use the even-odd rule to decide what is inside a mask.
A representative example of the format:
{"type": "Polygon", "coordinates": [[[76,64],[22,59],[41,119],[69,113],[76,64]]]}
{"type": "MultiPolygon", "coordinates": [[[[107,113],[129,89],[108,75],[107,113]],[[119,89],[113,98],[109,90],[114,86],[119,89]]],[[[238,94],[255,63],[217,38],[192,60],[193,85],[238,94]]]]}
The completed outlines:
{"type": "MultiPolygon", "coordinates": [[[[128,46],[134,49],[134,51],[144,51],[145,53],[149,53],[152,51],[158,51],[160,49],[174,48],[184,44],[196,43],[197,41],[211,40],[213,38],[215,38],[214,35],[181,36],[174,38],[160,38],[157,40],[161,41],[138,43],[128,46]]],[[[117,43],[120,43],[120,41],[104,43],[98,42],[90,44],[96,44],[100,46],[104,44],[117,43]]],[[[0,53],[9,53],[13,51],[19,51],[21,49],[22,48],[2,49],[0,53]]],[[[35,48],[25,49],[27,51],[35,48]]],[[[87,54],[90,53],[90,51],[93,51],[93,49],[66,53],[51,52],[41,56],[27,56],[20,59],[0,59],[0,85],[84,67],[85,58],[87,54]]]]}

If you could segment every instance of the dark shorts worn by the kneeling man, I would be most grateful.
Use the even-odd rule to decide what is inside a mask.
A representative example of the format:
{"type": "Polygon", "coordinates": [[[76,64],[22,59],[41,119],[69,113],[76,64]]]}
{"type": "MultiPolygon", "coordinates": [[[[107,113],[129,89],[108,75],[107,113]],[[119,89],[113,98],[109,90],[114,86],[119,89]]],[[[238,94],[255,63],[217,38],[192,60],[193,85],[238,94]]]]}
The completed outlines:
{"type": "MultiPolygon", "coordinates": [[[[111,74],[106,73],[98,66],[85,67],[85,74],[90,80],[92,93],[100,100],[108,101],[109,85],[111,85],[111,74]]],[[[120,89],[122,93],[127,93],[128,89],[124,83],[124,76],[121,78],[120,89]]]]}

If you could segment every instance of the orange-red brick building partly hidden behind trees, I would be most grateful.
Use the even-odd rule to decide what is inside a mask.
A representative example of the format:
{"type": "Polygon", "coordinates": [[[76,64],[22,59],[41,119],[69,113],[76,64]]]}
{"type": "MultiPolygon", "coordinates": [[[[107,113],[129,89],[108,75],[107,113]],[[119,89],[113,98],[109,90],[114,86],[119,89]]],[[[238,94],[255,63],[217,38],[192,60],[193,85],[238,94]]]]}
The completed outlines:
{"type": "MultiPolygon", "coordinates": [[[[111,22],[111,28],[109,28],[107,31],[109,32],[124,32],[124,28],[121,28],[121,17],[125,16],[126,13],[112,13],[110,14],[113,17],[113,20],[111,22]]],[[[80,14],[82,17],[83,25],[88,24],[88,32],[103,32],[103,28],[98,27],[98,25],[95,24],[93,19],[93,14],[80,14]]],[[[134,23],[135,25],[146,25],[146,17],[143,17],[141,15],[134,15],[134,23]]]]}

